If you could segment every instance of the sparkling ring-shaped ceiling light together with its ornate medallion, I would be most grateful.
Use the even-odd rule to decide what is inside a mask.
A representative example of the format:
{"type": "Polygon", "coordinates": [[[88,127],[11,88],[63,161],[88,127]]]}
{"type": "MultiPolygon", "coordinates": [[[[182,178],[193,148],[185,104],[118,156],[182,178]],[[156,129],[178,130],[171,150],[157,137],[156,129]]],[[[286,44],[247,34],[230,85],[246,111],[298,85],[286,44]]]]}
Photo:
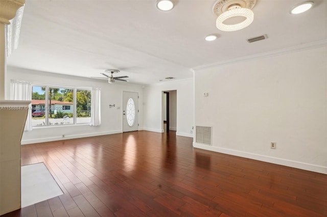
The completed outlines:
{"type": "Polygon", "coordinates": [[[237,31],[252,23],[254,14],[251,9],[255,0],[219,0],[214,5],[214,13],[218,16],[216,25],[221,31],[237,31]],[[242,17],[243,21],[235,24],[225,24],[230,18],[242,17]],[[244,19],[245,18],[245,19],[244,19]]]}

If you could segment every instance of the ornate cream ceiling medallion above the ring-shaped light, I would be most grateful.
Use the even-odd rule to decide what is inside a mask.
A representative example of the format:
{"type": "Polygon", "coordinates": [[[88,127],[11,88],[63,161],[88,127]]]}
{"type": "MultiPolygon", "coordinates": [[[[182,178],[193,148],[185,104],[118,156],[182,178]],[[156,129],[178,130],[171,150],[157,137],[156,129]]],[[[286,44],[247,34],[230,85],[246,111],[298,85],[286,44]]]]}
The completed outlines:
{"type": "Polygon", "coordinates": [[[241,8],[252,9],[256,0],[219,0],[215,3],[213,11],[219,16],[228,11],[233,5],[239,5],[241,8]]]}

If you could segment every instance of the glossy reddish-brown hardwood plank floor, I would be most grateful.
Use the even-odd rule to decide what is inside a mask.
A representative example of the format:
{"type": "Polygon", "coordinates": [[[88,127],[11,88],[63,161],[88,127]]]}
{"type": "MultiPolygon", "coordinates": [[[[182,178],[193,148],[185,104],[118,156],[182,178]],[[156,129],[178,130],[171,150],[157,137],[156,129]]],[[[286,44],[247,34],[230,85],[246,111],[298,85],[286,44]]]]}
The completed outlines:
{"type": "Polygon", "coordinates": [[[21,147],[64,195],[2,216],[327,216],[327,175],[135,131],[21,147]]]}

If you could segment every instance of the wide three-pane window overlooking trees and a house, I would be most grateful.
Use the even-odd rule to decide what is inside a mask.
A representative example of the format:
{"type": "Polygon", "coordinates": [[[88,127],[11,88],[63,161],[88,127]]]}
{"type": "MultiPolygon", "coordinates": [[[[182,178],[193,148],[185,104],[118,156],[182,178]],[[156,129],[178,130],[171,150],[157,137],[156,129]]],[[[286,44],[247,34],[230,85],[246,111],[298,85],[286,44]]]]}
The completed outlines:
{"type": "Polygon", "coordinates": [[[32,87],[33,126],[89,123],[90,111],[90,90],[51,86],[32,87]]]}

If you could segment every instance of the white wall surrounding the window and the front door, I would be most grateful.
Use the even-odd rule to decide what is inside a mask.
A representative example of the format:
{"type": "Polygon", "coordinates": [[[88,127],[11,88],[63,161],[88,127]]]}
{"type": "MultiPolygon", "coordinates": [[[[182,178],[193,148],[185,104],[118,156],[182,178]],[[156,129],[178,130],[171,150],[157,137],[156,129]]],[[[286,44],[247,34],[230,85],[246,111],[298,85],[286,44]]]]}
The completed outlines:
{"type": "Polygon", "coordinates": [[[29,82],[45,83],[49,85],[64,85],[70,87],[99,87],[101,88],[101,126],[65,125],[52,127],[38,127],[32,131],[25,131],[22,144],[90,137],[95,135],[122,132],[122,98],[123,91],[139,93],[139,130],[143,130],[143,89],[133,84],[108,84],[102,80],[38,72],[27,69],[8,67],[7,69],[7,97],[10,96],[10,80],[26,80],[29,82]],[[109,108],[109,104],[115,107],[109,108]],[[120,107],[118,110],[117,107],[120,107]],[[62,134],[65,138],[62,138],[62,134]]]}

